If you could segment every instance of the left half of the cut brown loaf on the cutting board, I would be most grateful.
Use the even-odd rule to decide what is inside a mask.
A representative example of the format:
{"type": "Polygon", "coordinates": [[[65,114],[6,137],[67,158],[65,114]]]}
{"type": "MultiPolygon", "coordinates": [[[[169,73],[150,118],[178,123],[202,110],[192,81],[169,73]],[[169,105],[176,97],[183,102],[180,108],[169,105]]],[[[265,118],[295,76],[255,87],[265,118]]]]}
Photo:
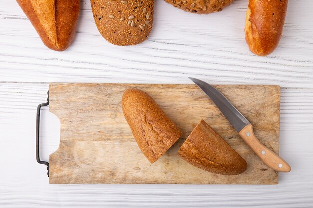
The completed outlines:
{"type": "Polygon", "coordinates": [[[182,135],[153,98],[141,90],[127,89],[122,109],[139,148],[151,163],[182,135]]]}

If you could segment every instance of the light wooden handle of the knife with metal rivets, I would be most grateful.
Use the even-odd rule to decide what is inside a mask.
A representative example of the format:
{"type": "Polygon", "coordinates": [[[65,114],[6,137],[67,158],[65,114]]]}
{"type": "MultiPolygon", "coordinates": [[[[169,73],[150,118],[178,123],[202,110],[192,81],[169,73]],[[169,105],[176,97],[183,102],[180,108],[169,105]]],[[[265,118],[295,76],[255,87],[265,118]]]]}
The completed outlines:
{"type": "Polygon", "coordinates": [[[290,165],[279,155],[265,147],[254,135],[252,124],[247,125],[239,132],[240,137],[255,152],[255,154],[275,171],[289,172],[290,165]]]}

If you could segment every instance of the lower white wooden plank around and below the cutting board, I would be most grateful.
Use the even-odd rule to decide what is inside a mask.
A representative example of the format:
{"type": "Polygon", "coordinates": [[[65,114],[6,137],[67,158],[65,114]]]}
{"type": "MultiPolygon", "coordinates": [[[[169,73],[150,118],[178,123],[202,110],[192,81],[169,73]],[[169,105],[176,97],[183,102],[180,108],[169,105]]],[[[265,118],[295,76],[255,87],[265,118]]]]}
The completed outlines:
{"type": "MultiPolygon", "coordinates": [[[[48,83],[0,83],[0,167],[5,170],[0,171],[1,208],[309,208],[313,204],[313,167],[308,165],[313,158],[313,88],[281,88],[279,153],[292,171],[279,173],[279,185],[248,186],[49,184],[46,167],[35,160],[34,139],[36,107],[46,102],[47,90],[48,83]]],[[[43,108],[41,118],[41,157],[48,161],[58,148],[60,125],[48,108],[43,108]]]]}

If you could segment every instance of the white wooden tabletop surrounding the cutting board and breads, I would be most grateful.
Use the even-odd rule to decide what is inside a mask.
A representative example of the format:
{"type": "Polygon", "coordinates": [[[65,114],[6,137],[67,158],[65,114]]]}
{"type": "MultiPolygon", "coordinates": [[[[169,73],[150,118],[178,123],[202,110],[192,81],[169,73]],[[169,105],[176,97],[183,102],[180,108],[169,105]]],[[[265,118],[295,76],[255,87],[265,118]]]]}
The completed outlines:
{"type": "MultiPolygon", "coordinates": [[[[268,57],[244,40],[247,0],[210,15],[155,2],[147,41],[118,47],[81,1],[77,35],[64,52],[47,49],[14,0],[0,0],[0,208],[313,207],[313,8],[290,0],[279,47],[268,57]],[[49,82],[276,84],[280,155],[292,166],[279,185],[50,185],[35,160],[36,106],[49,82]]],[[[42,158],[58,147],[58,119],[43,110],[42,158]]]]}

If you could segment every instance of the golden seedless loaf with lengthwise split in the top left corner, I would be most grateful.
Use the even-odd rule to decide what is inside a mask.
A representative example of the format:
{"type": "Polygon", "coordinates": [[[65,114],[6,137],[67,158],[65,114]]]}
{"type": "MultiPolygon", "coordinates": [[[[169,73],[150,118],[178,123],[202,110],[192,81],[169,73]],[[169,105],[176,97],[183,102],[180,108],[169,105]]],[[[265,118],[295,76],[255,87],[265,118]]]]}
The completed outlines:
{"type": "Polygon", "coordinates": [[[72,43],[80,0],[16,0],[50,49],[63,51],[72,43]]]}

